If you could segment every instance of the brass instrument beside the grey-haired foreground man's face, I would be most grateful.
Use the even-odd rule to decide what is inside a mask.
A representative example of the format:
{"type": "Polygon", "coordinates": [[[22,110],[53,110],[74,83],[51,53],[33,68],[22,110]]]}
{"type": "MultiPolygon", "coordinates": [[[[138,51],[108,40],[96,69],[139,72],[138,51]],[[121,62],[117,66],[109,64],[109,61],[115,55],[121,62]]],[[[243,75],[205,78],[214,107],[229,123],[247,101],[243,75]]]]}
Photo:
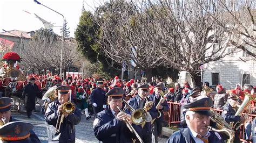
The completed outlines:
{"type": "Polygon", "coordinates": [[[230,137],[227,142],[232,143],[234,140],[234,131],[232,127],[225,121],[222,116],[216,113],[213,109],[211,109],[211,112],[213,113],[213,116],[210,117],[210,120],[216,123],[217,129],[208,126],[208,130],[225,133],[226,135],[228,135],[228,137],[230,137]]]}

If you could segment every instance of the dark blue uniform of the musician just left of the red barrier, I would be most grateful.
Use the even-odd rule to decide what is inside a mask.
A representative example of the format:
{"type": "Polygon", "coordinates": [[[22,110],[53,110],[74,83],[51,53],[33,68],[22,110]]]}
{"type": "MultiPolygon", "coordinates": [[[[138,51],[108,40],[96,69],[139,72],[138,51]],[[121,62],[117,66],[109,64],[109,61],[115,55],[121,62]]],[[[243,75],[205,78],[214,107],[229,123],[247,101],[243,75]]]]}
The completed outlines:
{"type": "MultiPolygon", "coordinates": [[[[149,99],[151,101],[153,101],[154,106],[157,106],[157,104],[159,103],[161,97],[161,95],[159,95],[159,97],[156,97],[156,94],[153,93],[152,95],[149,96],[149,99]]],[[[167,104],[167,102],[165,101],[164,103],[161,103],[160,105],[163,106],[163,109],[160,109],[159,111],[161,112],[161,116],[160,118],[156,118],[156,120],[154,120],[154,135],[156,136],[156,142],[157,142],[157,137],[159,137],[162,133],[162,129],[163,129],[163,121],[164,121],[164,112],[168,111],[169,109],[169,105],[167,104]]]]}

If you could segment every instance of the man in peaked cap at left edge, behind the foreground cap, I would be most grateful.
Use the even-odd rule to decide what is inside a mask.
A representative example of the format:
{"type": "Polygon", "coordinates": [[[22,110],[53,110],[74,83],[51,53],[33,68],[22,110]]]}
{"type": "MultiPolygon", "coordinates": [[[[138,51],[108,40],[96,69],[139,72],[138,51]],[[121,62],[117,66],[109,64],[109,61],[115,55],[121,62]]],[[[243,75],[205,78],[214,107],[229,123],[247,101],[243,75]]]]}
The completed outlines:
{"type": "MultiPolygon", "coordinates": [[[[17,121],[15,118],[11,117],[11,102],[12,102],[11,98],[8,98],[8,97],[0,98],[0,117],[1,117],[0,122],[2,124],[17,121]]],[[[5,132],[5,131],[6,130],[3,130],[3,132],[5,132]]],[[[2,135],[3,132],[1,132],[1,135],[2,135]]],[[[30,139],[31,142],[40,142],[40,140],[38,139],[35,132],[33,132],[32,128],[31,128],[31,130],[29,130],[29,133],[30,133],[29,139],[30,139]]]]}

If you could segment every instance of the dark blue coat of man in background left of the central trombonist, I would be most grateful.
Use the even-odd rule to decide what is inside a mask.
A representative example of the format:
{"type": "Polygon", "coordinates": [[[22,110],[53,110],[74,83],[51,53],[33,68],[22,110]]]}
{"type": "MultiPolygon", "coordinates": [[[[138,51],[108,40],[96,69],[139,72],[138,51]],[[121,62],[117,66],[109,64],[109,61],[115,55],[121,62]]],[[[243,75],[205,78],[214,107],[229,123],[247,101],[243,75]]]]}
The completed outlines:
{"type": "Polygon", "coordinates": [[[106,92],[101,88],[96,88],[92,90],[91,93],[91,103],[96,103],[97,107],[93,106],[93,111],[98,113],[103,110],[103,105],[107,102],[106,92]]]}

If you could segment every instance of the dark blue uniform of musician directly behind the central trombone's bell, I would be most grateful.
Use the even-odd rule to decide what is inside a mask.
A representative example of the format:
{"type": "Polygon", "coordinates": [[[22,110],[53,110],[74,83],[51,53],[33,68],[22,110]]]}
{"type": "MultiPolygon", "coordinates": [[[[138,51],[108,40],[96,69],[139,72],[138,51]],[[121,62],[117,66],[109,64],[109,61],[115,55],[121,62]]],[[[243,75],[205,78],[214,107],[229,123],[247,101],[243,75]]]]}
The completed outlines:
{"type": "MultiPolygon", "coordinates": [[[[129,103],[129,105],[132,106],[133,109],[135,109],[135,110],[139,109],[139,99],[140,99],[139,95],[136,95],[135,97],[131,98],[128,101],[128,103],[129,103]]],[[[144,101],[144,105],[145,105],[145,103],[146,103],[146,100],[144,101]]],[[[157,117],[158,112],[154,105],[148,112],[150,113],[152,119],[157,117]]],[[[151,122],[147,122],[143,128],[141,125],[134,125],[134,128],[137,131],[137,133],[140,135],[140,138],[142,138],[142,140],[144,142],[151,142],[151,138],[152,138],[151,122]]]]}

